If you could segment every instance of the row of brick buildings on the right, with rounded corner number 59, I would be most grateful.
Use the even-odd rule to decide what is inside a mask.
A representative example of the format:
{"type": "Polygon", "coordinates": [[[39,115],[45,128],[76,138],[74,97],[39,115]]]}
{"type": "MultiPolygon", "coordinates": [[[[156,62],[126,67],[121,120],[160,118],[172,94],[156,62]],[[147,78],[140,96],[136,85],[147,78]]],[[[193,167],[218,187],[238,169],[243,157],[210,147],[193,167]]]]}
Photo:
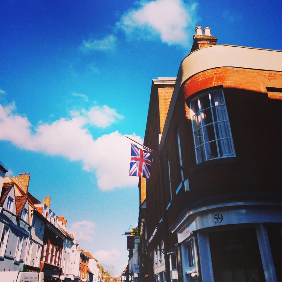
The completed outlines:
{"type": "Polygon", "coordinates": [[[139,181],[140,275],[281,281],[282,52],[193,39],[152,83],[144,145],[164,158],[139,181]]]}

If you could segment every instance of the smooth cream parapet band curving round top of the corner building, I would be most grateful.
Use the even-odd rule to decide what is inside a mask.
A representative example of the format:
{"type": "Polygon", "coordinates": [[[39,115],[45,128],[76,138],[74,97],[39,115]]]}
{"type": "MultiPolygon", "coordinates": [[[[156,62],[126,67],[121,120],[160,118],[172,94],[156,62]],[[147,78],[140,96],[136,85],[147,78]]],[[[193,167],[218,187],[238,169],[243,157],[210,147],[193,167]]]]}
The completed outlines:
{"type": "Polygon", "coordinates": [[[189,53],[181,61],[178,70],[159,150],[163,149],[182,85],[197,73],[220,67],[282,71],[282,51],[225,44],[212,45],[189,53]]]}

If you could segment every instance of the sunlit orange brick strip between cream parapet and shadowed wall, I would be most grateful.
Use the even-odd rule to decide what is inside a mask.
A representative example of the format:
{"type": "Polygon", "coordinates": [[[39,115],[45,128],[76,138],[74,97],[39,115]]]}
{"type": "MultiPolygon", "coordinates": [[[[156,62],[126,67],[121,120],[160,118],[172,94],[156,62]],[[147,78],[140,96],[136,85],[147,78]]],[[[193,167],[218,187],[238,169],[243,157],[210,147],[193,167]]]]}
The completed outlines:
{"type": "MultiPolygon", "coordinates": [[[[184,97],[187,99],[198,91],[219,85],[267,93],[266,87],[282,88],[281,81],[282,72],[278,71],[221,67],[202,71],[188,79],[184,84],[184,97]]],[[[282,99],[282,93],[277,93],[276,97],[271,94],[269,98],[282,99]]]]}

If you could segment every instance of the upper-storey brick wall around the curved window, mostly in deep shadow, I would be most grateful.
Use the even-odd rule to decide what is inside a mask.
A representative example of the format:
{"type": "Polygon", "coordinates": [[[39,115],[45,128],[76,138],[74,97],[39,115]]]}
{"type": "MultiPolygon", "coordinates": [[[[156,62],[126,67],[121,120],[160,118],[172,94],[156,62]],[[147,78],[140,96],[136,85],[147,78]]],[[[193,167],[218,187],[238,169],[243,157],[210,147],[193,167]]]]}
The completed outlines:
{"type": "MultiPolygon", "coordinates": [[[[282,73],[236,68],[206,70],[185,83],[183,92],[178,95],[163,149],[176,164],[170,166],[173,202],[168,212],[169,224],[185,207],[209,196],[279,191],[282,181],[279,173],[282,99],[279,97],[282,95],[275,92],[276,99],[273,99],[266,87],[281,86],[282,73]],[[184,107],[184,99],[198,91],[220,85],[223,85],[236,157],[214,159],[196,165],[192,125],[189,109],[184,107]],[[177,128],[182,144],[184,177],[189,179],[190,192],[181,188],[176,195],[180,184],[177,128]]],[[[169,191],[167,178],[166,191],[169,191]]]]}

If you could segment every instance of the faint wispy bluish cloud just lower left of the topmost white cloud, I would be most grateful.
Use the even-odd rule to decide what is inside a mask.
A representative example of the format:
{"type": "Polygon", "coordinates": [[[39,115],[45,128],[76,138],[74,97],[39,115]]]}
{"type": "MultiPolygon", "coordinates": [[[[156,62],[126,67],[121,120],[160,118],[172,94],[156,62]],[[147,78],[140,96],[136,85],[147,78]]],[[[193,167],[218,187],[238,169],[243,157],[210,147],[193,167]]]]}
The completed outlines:
{"type": "Polygon", "coordinates": [[[113,51],[116,48],[116,37],[112,34],[105,36],[103,39],[83,40],[80,49],[84,52],[88,51],[113,51]]]}

